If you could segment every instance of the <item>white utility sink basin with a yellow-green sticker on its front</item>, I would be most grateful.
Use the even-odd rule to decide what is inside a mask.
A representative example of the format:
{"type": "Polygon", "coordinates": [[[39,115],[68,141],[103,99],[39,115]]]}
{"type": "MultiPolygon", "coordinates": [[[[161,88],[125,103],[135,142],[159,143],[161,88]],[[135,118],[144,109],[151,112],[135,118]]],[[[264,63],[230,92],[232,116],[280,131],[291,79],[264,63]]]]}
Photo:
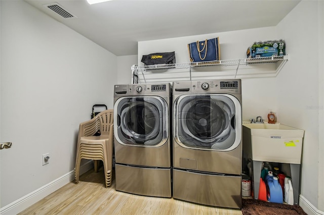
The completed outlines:
{"type": "Polygon", "coordinates": [[[263,162],[301,163],[304,131],[280,123],[243,123],[243,156],[263,162]]]}

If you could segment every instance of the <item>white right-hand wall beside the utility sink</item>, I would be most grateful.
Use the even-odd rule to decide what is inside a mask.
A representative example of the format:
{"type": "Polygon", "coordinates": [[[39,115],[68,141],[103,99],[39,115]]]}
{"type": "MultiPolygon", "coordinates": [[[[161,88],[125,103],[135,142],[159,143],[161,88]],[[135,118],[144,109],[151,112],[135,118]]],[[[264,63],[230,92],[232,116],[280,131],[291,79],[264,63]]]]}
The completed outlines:
{"type": "Polygon", "coordinates": [[[301,195],[321,211],[324,211],[323,12],[322,1],[302,1],[278,24],[278,35],[284,36],[291,55],[276,80],[280,122],[305,130],[301,195]]]}

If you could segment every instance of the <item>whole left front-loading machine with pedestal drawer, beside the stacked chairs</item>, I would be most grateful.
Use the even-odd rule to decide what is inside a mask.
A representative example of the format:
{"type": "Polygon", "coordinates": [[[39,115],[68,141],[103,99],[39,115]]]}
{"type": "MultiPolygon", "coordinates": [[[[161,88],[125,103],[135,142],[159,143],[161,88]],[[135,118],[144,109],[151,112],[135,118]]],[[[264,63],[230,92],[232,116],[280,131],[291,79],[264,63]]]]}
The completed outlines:
{"type": "Polygon", "coordinates": [[[172,197],[172,85],[114,86],[116,190],[172,197]]]}

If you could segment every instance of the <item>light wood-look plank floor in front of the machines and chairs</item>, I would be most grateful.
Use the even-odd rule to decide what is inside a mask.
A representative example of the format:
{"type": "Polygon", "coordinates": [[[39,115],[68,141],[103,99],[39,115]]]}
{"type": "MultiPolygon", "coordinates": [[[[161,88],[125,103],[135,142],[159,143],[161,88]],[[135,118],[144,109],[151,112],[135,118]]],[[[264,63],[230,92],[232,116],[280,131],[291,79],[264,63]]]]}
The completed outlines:
{"type": "Polygon", "coordinates": [[[239,214],[238,209],[210,207],[173,198],[133,195],[104,186],[102,168],[80,176],[19,214],[239,214]]]}

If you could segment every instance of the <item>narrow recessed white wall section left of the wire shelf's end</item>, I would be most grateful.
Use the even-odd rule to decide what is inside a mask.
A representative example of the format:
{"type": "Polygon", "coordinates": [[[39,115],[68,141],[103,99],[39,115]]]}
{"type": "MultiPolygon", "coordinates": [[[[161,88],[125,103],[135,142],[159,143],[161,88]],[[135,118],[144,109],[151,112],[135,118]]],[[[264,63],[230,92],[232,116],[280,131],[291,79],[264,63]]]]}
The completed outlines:
{"type": "Polygon", "coordinates": [[[117,83],[116,84],[132,83],[131,67],[133,65],[137,65],[137,55],[117,57],[117,83]]]}

